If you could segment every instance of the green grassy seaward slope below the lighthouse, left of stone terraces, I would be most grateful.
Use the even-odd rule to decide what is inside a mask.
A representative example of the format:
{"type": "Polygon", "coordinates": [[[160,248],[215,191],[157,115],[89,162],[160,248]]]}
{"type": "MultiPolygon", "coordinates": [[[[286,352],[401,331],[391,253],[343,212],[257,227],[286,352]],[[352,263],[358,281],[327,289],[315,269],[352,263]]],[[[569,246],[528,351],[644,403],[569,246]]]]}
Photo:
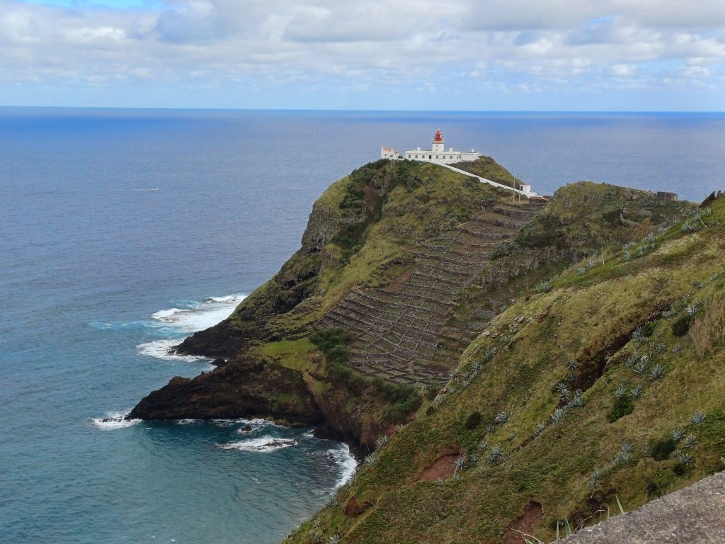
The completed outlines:
{"type": "MultiPolygon", "coordinates": [[[[483,170],[492,168],[505,176],[506,170],[494,162],[481,165],[483,170]]],[[[373,162],[332,184],[315,202],[310,223],[336,224],[336,234],[321,252],[303,246],[231,316],[241,334],[254,338],[243,357],[300,371],[328,419],[334,420],[331,427],[343,434],[346,427],[357,429],[349,438],[373,447],[378,434],[389,432],[401,417],[390,411],[393,401],[386,398],[384,384],[329,376],[308,337],[323,313],[350,289],[397,278],[413,264],[407,250],[497,198],[497,191],[478,181],[410,161],[373,162]],[[318,273],[284,288],[311,270],[318,273]],[[298,295],[290,292],[295,289],[304,289],[302,302],[286,311],[275,308],[278,300],[294,300],[298,295]]]]}

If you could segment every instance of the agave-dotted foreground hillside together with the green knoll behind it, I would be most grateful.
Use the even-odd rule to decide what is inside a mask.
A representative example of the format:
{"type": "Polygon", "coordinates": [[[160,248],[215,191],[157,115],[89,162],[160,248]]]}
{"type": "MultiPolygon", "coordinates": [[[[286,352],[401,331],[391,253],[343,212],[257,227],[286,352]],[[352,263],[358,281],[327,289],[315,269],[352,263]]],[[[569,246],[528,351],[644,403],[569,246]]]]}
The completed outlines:
{"type": "Polygon", "coordinates": [[[457,297],[453,321],[501,313],[450,382],[289,542],[550,541],[724,469],[724,255],[725,197],[560,189],[497,255],[508,280],[457,297]],[[510,274],[544,248],[576,262],[510,274]]]}

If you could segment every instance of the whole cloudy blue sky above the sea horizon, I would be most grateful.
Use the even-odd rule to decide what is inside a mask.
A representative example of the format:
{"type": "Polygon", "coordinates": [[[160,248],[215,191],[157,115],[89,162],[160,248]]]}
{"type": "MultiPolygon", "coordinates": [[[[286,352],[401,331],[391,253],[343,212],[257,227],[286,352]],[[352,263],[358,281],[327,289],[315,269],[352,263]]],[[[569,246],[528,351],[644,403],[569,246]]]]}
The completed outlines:
{"type": "Polygon", "coordinates": [[[0,105],[725,110],[725,0],[0,0],[0,105]]]}

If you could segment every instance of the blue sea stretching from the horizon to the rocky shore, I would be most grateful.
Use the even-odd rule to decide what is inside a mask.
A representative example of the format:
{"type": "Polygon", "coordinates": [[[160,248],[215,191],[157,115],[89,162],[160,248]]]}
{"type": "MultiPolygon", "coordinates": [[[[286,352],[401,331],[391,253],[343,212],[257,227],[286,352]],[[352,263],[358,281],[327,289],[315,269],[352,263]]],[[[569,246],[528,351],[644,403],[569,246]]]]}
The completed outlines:
{"type": "Polygon", "coordinates": [[[278,270],[328,184],[436,128],[540,194],[725,189],[722,114],[0,108],[1,542],[276,543],[323,506],[355,461],[311,429],[102,419],[210,370],[165,350],[278,270]]]}

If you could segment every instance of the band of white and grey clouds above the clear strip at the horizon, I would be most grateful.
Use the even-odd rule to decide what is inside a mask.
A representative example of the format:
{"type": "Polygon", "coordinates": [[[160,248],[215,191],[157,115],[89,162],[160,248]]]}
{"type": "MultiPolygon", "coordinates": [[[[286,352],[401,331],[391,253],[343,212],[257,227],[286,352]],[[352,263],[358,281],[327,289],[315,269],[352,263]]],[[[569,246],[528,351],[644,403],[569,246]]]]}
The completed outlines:
{"type": "Polygon", "coordinates": [[[724,74],[719,1],[167,0],[123,10],[0,0],[5,84],[289,86],[294,96],[309,82],[434,96],[462,81],[546,94],[627,79],[656,93],[689,78],[725,96],[724,74]],[[693,68],[704,70],[683,75],[693,68]]]}

